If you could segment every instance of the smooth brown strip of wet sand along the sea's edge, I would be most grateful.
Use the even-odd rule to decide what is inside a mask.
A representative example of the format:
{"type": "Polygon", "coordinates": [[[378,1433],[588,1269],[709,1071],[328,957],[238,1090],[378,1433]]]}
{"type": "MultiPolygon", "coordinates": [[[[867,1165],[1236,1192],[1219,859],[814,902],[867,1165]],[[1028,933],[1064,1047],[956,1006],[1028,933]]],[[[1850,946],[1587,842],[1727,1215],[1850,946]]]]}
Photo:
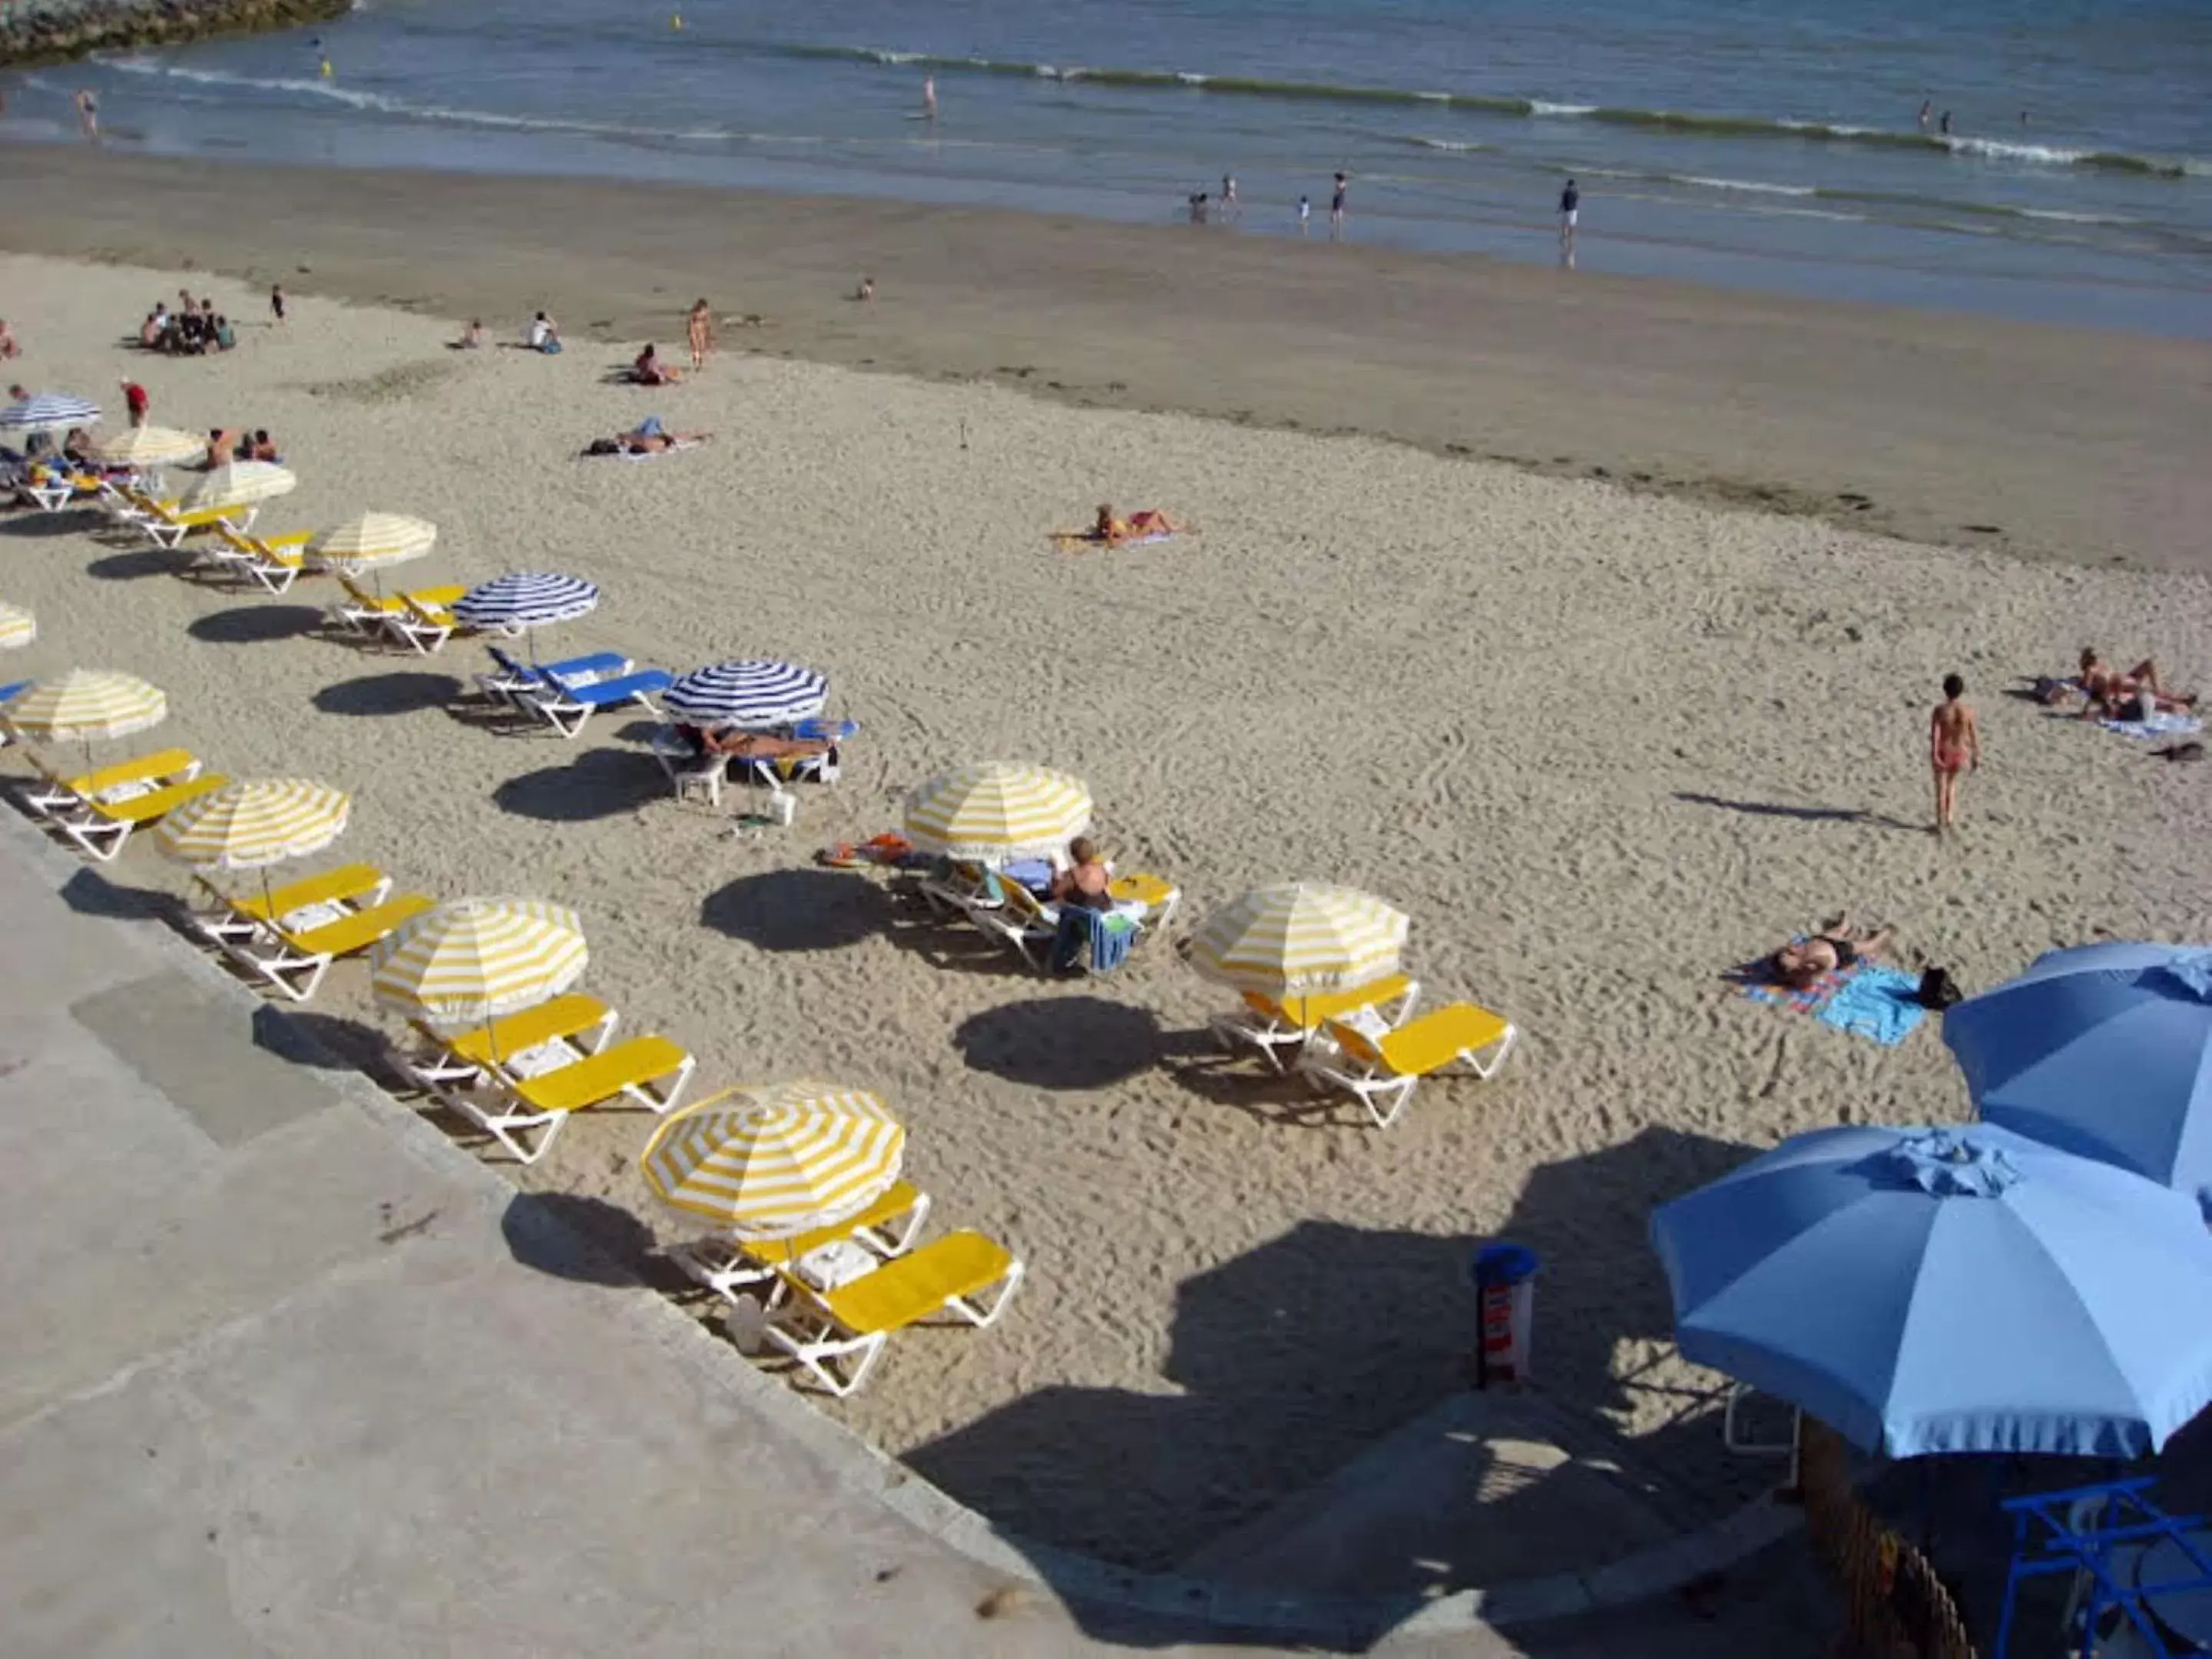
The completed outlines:
{"type": "MultiPolygon", "coordinates": [[[[679,336],[1358,431],[1856,529],[2208,568],[2212,343],[1022,212],[18,150],[0,248],[190,263],[507,334],[679,336]],[[250,201],[250,206],[241,206],[250,201]],[[849,301],[876,276],[872,305],[849,301]]],[[[1354,234],[1358,226],[1354,221],[1354,234]]],[[[150,296],[148,296],[150,299],[150,296]]]]}

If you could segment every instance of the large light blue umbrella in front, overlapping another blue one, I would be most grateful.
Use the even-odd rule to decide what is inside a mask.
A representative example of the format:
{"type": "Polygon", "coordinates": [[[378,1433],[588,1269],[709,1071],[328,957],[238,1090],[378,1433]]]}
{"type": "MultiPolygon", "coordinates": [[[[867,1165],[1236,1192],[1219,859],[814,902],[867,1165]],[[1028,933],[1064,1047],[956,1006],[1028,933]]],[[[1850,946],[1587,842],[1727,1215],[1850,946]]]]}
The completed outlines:
{"type": "Polygon", "coordinates": [[[1798,1135],[1652,1248],[1683,1358],[1893,1458],[2135,1458],[2212,1398],[2197,1206],[1991,1124],[1798,1135]]]}

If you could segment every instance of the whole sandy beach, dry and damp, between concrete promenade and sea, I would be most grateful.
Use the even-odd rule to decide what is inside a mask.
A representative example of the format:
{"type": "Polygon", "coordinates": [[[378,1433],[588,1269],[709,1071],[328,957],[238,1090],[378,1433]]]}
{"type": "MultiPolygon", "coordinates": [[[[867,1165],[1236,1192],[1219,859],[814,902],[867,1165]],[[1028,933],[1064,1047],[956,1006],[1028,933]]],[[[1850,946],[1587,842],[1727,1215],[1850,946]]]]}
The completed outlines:
{"type": "MultiPolygon", "coordinates": [[[[834,1409],[1031,1537],[1168,1566],[1329,1473],[1462,1385],[1460,1272],[1500,1234],[1546,1261],[1544,1387],[1717,1513],[1772,1471],[1725,1458],[1714,1378],[1668,1347],[1650,1206],[1794,1130],[1966,1108],[1933,1026],[1878,1048],[1723,971],[1838,909],[1969,989],[2057,945],[2212,933],[2203,770],[2006,697],[2084,644],[2212,681],[2199,347],[1661,285],[1562,294],[1542,272],[1358,252],[1405,303],[1321,330],[1349,261],[1318,248],[1281,274],[1285,250],[1214,239],[1201,270],[1155,257],[1166,239],[1033,221],[1022,241],[978,230],[984,265],[962,272],[925,250],[989,215],[799,204],[772,221],[770,276],[737,210],[675,226],[648,263],[568,252],[575,215],[540,212],[553,186],[409,181],[431,204],[416,219],[392,181],[347,177],[347,226],[276,230],[268,208],[215,228],[197,195],[215,175],[46,161],[11,188],[0,243],[115,263],[0,257],[27,345],[9,378],[115,398],[133,376],[161,425],[270,427],[301,487],[261,526],[420,513],[440,544],[409,580],[599,582],[551,650],[830,672],[832,710],[865,728],[845,781],[790,834],[737,841],[728,807],[668,799],[633,721],[562,743],[458,719],[482,666],[467,641],[365,653],[321,637],[323,580],[268,597],[179,580],[84,520],[0,518],[0,599],[42,628],[0,659],[7,679],[142,672],[168,690],[166,743],[349,787],[338,856],[438,898],[575,905],[586,989],[690,1046],[703,1088],[816,1073],[880,1091],[942,1223],[1006,1239],[1031,1281],[991,1332],[896,1343],[834,1409]],[[874,307],[836,299],[863,219],[911,259],[874,268],[874,307]],[[1079,237],[1088,279],[1040,299],[1079,237]],[[562,263],[522,268],[533,248],[562,263]],[[1234,290],[1263,257],[1265,303],[1201,330],[1203,285],[1234,290]],[[1004,310],[989,261],[1029,261],[1004,310]],[[234,354],[122,349],[157,294],[210,288],[208,265],[261,279],[212,283],[248,323],[234,354]],[[272,272],[294,294],[283,330],[263,325],[272,272]],[[513,338],[526,283],[568,325],[564,356],[447,349],[471,312],[513,338]],[[1495,310],[1429,352],[1422,307],[1473,283],[1495,310]],[[635,341],[681,341],[695,290],[772,321],[730,330],[697,383],[608,385],[635,341]],[[1064,396],[1029,396],[1042,380],[1064,396]],[[1250,420],[1201,418],[1234,409],[1250,420]],[[575,458],[644,414],[714,442],[575,458]],[[1462,440],[1575,471],[1641,456],[1688,482],[1429,453],[1462,440]],[[1714,504],[1723,478],[1776,504],[1860,489],[1878,504],[1858,518],[1931,540],[1843,529],[1834,500],[1714,504]],[[1099,500],[1203,533],[1046,544],[1099,500]],[[1969,522],[2035,557],[1936,544],[1969,522]],[[1986,768],[1940,845],[1924,721],[1949,670],[1986,768]],[[810,867],[894,827],[929,772],[991,757],[1084,776],[1108,854],[1170,876],[1186,916],[1283,876],[1389,896],[1416,918],[1427,995],[1509,1013],[1520,1051],[1493,1084],[1425,1086],[1389,1133],[1316,1119],[1212,1053],[1203,1020],[1228,998],[1168,949],[1048,982],[914,927],[872,876],[810,867]]],[[[644,217],[679,195],[595,201],[644,217]]],[[[113,874],[186,885],[144,845],[113,874]]],[[[314,1018],[343,1053],[394,1035],[358,964],[314,1018]]],[[[586,1115],[515,1179],[644,1259],[684,1232],[635,1175],[646,1133],[586,1115]]]]}

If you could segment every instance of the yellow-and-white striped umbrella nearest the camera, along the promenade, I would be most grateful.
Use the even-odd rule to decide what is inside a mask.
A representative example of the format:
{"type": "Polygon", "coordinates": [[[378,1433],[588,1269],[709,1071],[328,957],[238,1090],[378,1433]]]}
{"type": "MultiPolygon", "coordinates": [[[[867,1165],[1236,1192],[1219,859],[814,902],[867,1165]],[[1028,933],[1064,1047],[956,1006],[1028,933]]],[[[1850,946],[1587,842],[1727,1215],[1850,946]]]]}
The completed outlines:
{"type": "Polygon", "coordinates": [[[823,1082],[726,1088],[666,1119],[639,1157],[646,1186],[743,1239],[787,1239],[858,1214],[907,1152],[880,1099],[823,1082]]]}

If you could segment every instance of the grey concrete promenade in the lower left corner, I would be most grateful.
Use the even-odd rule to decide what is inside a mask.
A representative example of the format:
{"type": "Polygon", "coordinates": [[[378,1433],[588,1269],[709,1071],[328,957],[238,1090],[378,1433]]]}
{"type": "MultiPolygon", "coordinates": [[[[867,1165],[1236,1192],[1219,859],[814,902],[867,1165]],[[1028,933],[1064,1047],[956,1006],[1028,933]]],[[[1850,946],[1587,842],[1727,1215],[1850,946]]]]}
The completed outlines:
{"type": "MultiPolygon", "coordinates": [[[[1290,1650],[1228,1593],[1214,1646],[1088,1599],[133,909],[0,814],[0,1652],[1290,1650]]],[[[1318,1641],[1792,1652],[1803,1617],[1318,1641]]]]}

